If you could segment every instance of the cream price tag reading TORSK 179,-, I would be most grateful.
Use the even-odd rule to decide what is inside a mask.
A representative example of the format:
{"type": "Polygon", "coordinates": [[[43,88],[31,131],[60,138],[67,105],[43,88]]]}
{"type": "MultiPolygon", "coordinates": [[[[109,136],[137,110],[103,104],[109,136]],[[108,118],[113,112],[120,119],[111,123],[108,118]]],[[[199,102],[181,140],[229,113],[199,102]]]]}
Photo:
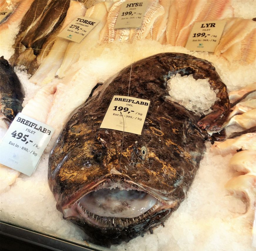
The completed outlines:
{"type": "Polygon", "coordinates": [[[79,16],[74,19],[66,28],[64,28],[57,36],[66,38],[67,40],[80,43],[83,38],[100,22],[93,18],[79,16]]]}

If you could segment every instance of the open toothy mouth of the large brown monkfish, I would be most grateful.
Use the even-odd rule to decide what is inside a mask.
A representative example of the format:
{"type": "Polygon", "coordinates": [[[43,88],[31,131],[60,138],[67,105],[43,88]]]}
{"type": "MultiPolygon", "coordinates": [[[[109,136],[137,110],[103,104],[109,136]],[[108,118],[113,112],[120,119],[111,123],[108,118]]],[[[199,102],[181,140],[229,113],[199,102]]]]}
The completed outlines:
{"type": "Polygon", "coordinates": [[[175,200],[129,182],[102,182],[63,209],[64,219],[78,219],[97,227],[128,227],[163,209],[175,200]]]}

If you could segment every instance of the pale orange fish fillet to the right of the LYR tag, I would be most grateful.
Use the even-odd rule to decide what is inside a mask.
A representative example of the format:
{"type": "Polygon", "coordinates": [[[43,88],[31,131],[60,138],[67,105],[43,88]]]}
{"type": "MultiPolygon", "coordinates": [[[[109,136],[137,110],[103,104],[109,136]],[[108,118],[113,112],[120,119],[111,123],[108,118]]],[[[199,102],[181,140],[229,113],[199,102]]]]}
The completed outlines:
{"type": "Polygon", "coordinates": [[[222,56],[229,62],[239,61],[247,65],[256,58],[256,22],[251,19],[227,19],[220,43],[214,54],[222,56]]]}

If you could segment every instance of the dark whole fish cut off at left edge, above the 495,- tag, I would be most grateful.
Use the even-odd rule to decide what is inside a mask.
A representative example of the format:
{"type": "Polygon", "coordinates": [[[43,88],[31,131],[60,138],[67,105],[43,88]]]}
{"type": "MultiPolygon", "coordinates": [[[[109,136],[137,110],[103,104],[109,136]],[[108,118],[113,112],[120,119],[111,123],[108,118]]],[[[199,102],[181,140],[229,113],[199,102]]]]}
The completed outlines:
{"type": "Polygon", "coordinates": [[[0,57],[0,108],[7,126],[22,110],[24,90],[16,73],[4,56],[0,57]]]}

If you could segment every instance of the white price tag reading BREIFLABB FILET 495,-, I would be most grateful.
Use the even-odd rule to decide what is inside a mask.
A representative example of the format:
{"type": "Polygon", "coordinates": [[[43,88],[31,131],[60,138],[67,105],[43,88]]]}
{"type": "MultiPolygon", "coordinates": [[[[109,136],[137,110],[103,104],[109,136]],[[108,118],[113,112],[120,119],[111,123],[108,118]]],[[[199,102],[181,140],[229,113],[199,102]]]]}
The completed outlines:
{"type": "Polygon", "coordinates": [[[53,131],[51,126],[18,113],[0,143],[0,163],[31,176],[53,131]]]}

